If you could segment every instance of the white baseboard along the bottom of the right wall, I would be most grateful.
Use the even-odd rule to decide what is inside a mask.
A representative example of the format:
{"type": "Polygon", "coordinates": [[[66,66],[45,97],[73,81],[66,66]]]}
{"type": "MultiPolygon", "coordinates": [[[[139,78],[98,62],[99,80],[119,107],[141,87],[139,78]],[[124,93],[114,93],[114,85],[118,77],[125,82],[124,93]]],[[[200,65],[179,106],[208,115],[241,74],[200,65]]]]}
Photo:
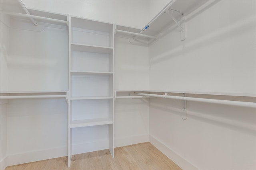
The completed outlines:
{"type": "Polygon", "coordinates": [[[176,163],[183,170],[199,170],[196,166],[192,165],[186,159],[182,158],[160,140],[155,137],[149,135],[149,142],[154,145],[157,149],[159,149],[163,154],[165,154],[168,158],[170,158],[174,163],[176,163]]]}

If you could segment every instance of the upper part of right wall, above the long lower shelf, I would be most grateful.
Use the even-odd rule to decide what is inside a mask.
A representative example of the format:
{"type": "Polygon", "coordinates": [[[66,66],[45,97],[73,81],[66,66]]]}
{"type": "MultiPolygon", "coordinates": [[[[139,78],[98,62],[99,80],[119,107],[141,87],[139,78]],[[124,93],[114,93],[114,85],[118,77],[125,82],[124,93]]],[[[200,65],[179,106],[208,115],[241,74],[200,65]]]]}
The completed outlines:
{"type": "Polygon", "coordinates": [[[217,1],[187,16],[185,41],[175,29],[150,47],[150,88],[256,93],[255,3],[217,1]]]}

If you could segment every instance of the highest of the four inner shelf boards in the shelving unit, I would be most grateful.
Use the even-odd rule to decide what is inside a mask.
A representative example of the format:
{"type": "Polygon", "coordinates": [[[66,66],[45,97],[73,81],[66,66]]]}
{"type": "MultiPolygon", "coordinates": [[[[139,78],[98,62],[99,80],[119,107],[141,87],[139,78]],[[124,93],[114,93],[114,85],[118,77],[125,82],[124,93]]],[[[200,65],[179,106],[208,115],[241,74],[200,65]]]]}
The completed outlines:
{"type": "Polygon", "coordinates": [[[110,54],[113,52],[113,47],[71,43],[71,51],[110,54]]]}

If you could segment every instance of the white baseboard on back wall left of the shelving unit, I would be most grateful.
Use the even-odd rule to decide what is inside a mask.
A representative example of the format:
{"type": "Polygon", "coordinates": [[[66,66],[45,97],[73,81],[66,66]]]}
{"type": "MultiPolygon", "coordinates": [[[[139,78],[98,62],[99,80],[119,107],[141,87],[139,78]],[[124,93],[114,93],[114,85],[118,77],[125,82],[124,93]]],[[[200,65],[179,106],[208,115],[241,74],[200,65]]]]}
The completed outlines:
{"type": "Polygon", "coordinates": [[[28,162],[35,162],[38,160],[58,158],[58,157],[67,156],[67,155],[68,155],[67,147],[60,147],[60,148],[54,148],[54,149],[48,149],[48,150],[40,150],[35,152],[9,155],[8,166],[24,164],[28,162]]]}

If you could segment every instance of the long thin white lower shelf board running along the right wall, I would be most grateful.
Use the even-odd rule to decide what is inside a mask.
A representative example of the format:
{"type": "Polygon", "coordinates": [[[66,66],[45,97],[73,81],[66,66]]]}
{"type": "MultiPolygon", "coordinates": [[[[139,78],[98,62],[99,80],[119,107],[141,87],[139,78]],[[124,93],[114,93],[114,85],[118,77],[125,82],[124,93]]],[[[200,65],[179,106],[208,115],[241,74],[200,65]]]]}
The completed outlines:
{"type": "Polygon", "coordinates": [[[193,92],[193,91],[170,91],[170,90],[115,90],[115,92],[160,92],[160,93],[181,93],[181,94],[204,94],[218,96],[241,96],[256,97],[255,93],[225,93],[225,92],[193,92]]]}

